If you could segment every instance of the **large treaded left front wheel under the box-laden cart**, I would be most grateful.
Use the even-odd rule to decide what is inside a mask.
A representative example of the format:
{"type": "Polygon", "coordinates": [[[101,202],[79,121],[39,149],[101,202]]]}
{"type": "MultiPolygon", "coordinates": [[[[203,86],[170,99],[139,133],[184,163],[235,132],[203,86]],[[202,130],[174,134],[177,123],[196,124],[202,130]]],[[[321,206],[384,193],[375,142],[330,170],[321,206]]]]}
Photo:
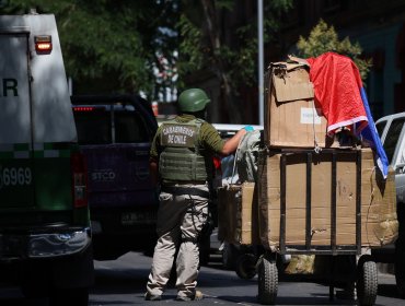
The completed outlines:
{"type": "Polygon", "coordinates": [[[278,290],[278,271],[276,261],[262,258],[258,266],[258,302],[262,305],[273,305],[278,290]]]}

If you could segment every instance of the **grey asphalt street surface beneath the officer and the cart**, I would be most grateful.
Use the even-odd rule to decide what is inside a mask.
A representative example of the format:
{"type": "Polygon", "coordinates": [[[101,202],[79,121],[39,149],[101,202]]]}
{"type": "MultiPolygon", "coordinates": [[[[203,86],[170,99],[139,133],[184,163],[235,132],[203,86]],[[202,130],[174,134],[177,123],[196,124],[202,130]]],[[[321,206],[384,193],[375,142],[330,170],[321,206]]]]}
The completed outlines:
{"type": "MultiPolygon", "coordinates": [[[[176,291],[173,284],[165,292],[162,302],[143,301],[151,258],[140,254],[127,254],[117,261],[96,262],[96,286],[91,294],[90,305],[177,305],[174,301],[176,291]]],[[[193,305],[259,305],[257,276],[241,280],[233,271],[220,269],[211,262],[202,267],[199,275],[199,289],[206,298],[193,305]]],[[[184,305],[184,304],[183,304],[184,305]]],[[[356,305],[354,301],[328,299],[328,286],[311,282],[280,282],[277,305],[356,305]]],[[[395,280],[391,274],[379,275],[379,295],[375,305],[405,305],[398,299],[395,280]]]]}

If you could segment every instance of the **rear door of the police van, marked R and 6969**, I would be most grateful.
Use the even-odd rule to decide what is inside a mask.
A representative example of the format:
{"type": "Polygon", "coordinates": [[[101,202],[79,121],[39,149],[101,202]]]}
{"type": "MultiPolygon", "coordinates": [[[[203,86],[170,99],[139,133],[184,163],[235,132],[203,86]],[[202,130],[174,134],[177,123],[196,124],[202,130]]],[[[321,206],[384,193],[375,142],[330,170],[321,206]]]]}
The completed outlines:
{"type": "Polygon", "coordinates": [[[30,32],[0,32],[0,208],[34,205],[30,32]]]}

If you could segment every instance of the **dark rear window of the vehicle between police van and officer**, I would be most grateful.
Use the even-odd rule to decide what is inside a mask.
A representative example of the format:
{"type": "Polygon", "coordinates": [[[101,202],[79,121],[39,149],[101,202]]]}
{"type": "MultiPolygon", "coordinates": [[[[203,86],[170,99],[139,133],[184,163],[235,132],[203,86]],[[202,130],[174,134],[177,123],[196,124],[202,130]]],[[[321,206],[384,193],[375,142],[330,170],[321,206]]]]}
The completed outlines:
{"type": "Polygon", "coordinates": [[[114,110],[114,116],[104,107],[91,111],[74,110],[74,120],[79,144],[150,141],[146,121],[134,110],[114,110]]]}

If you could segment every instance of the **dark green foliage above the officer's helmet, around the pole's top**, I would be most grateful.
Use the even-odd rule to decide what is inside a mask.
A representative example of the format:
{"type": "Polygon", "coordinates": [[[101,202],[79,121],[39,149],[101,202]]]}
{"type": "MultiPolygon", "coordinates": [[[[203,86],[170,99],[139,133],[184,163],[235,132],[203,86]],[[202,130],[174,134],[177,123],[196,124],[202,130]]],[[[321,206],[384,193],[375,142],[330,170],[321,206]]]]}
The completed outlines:
{"type": "MultiPolygon", "coordinates": [[[[204,0],[184,0],[181,22],[177,24],[181,33],[180,54],[177,62],[180,75],[185,76],[193,70],[207,68],[222,69],[232,80],[232,86],[241,84],[252,85],[257,81],[257,20],[252,20],[235,28],[231,37],[224,35],[218,25],[223,22],[222,16],[235,9],[233,0],[206,1],[213,8],[211,20],[204,16],[201,2],[204,0]],[[200,12],[196,14],[196,12],[200,12]],[[185,22],[187,21],[187,22],[185,22]],[[199,33],[207,28],[207,23],[213,24],[212,32],[199,33]],[[215,27],[217,23],[217,27],[215,27]],[[193,27],[193,30],[192,30],[193,27]],[[215,37],[217,45],[213,45],[215,37]],[[238,46],[238,48],[235,48],[238,46]]],[[[275,37],[280,26],[280,16],[292,8],[292,0],[264,1],[264,43],[275,37]]],[[[236,91],[235,91],[236,92],[236,91]]]]}

